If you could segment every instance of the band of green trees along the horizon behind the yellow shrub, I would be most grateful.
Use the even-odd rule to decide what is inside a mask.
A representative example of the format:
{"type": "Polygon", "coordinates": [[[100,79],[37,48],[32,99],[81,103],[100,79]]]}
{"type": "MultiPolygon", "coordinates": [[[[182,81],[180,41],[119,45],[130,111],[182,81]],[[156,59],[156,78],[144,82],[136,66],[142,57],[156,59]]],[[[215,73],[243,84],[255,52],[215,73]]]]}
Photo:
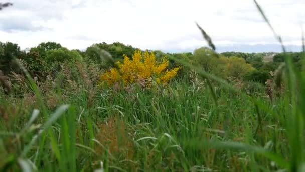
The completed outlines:
{"type": "MultiPolygon", "coordinates": [[[[61,70],[65,62],[81,62],[86,65],[94,65],[101,69],[114,67],[113,61],[101,59],[99,50],[109,52],[113,61],[122,60],[123,55],[132,58],[133,53],[138,50],[131,45],[124,45],[119,42],[107,44],[105,42],[94,44],[85,51],[69,50],[55,42],[41,43],[36,47],[21,50],[18,44],[11,42],[0,42],[0,70],[4,75],[11,72],[20,73],[20,67],[16,63],[18,59],[30,72],[33,77],[44,80],[48,75],[56,74],[61,70]]],[[[275,71],[279,64],[288,56],[298,63],[302,63],[304,53],[241,53],[241,52],[224,52],[217,54],[213,50],[202,47],[194,52],[187,53],[164,53],[156,50],[146,50],[154,52],[156,59],[161,60],[163,57],[175,57],[200,65],[205,71],[213,73],[219,77],[235,77],[239,79],[254,80],[261,83],[271,78],[270,71],[275,71]],[[272,57],[273,60],[265,62],[265,57],[272,57]]],[[[179,64],[170,60],[169,67],[175,67],[179,64]]],[[[182,69],[178,76],[188,77],[189,70],[182,69]]]]}

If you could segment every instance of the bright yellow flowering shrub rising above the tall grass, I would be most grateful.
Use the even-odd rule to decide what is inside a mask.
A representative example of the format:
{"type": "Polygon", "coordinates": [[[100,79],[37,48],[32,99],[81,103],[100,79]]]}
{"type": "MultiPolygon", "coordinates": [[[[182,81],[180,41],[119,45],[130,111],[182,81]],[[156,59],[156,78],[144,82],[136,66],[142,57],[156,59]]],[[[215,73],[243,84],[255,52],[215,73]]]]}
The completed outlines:
{"type": "Polygon", "coordinates": [[[100,76],[100,84],[113,85],[123,82],[125,85],[133,83],[145,83],[149,85],[149,81],[153,77],[157,78],[158,84],[167,84],[174,76],[177,75],[180,67],[166,70],[169,61],[163,58],[161,62],[156,61],[154,53],[135,51],[132,60],[124,55],[123,63],[116,63],[116,68],[111,68],[100,76]]]}

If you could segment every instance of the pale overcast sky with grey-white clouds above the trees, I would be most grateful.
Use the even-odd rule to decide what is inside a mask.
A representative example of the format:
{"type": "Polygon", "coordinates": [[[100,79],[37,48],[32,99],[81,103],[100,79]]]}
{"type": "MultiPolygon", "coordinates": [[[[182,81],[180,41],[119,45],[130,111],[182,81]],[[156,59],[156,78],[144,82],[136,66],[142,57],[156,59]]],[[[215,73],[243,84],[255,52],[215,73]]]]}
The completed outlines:
{"type": "MultiPolygon", "coordinates": [[[[219,52],[280,50],[252,0],[11,2],[14,6],[0,11],[0,41],[18,43],[22,48],[55,41],[70,49],[85,49],[93,43],[119,41],[141,49],[193,51],[206,45],[196,21],[219,52]]],[[[305,1],[258,2],[288,50],[299,50],[305,1]]]]}

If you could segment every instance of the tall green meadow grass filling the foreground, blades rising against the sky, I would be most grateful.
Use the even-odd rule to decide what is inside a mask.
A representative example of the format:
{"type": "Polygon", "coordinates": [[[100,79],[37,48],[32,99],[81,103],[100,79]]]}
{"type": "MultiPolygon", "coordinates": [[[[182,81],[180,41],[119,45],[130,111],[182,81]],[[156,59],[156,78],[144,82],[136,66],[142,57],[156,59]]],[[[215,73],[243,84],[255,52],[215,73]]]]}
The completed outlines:
{"type": "Polygon", "coordinates": [[[182,79],[165,88],[101,89],[79,73],[75,89],[59,74],[49,90],[54,108],[24,70],[36,101],[0,92],[0,170],[304,170],[305,77],[291,59],[283,70],[288,90],[274,102],[263,87],[249,95],[173,60],[209,79],[208,85],[182,79]]]}

